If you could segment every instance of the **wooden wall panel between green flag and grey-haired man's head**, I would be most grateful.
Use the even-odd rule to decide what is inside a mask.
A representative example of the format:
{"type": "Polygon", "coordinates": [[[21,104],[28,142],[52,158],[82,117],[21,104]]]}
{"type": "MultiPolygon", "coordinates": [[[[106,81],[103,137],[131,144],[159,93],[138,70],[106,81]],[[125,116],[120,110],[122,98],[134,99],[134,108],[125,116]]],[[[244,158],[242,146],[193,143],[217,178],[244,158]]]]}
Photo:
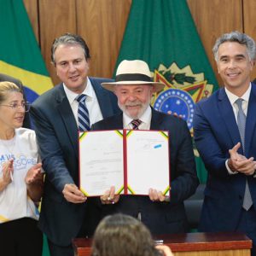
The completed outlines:
{"type": "Polygon", "coordinates": [[[208,59],[218,79],[218,84],[222,85],[212,55],[212,46],[224,32],[234,30],[243,32],[242,0],[187,0],[187,2],[201,42],[207,51],[208,59]]]}

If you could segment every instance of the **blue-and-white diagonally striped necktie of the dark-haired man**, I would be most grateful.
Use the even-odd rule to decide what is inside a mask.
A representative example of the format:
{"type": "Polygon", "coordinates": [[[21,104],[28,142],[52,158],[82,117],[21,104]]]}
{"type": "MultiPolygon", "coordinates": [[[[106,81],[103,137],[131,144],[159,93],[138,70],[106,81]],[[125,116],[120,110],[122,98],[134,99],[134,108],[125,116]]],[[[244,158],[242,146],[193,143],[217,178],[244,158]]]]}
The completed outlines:
{"type": "Polygon", "coordinates": [[[76,100],[79,102],[79,131],[90,131],[90,119],[89,112],[85,105],[86,95],[81,94],[76,97],[76,100]]]}

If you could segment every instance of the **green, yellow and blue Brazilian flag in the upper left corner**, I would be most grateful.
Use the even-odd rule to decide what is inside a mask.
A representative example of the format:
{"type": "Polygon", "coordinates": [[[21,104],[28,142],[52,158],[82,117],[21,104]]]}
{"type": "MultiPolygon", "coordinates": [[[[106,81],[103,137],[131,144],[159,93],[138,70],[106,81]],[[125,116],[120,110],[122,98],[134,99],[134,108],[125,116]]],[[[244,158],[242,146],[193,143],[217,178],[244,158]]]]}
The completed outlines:
{"type": "Polygon", "coordinates": [[[0,0],[0,73],[20,79],[33,102],[53,84],[22,0],[0,0]]]}

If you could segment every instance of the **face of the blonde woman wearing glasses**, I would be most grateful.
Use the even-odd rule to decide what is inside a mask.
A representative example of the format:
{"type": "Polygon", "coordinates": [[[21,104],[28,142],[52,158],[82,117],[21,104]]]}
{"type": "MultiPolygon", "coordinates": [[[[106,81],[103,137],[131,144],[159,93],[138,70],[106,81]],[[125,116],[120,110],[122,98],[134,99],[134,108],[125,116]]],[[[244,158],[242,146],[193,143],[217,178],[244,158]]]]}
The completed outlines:
{"type": "Polygon", "coordinates": [[[17,91],[6,93],[5,100],[0,103],[0,129],[1,131],[20,128],[25,116],[25,108],[21,107],[24,102],[23,95],[17,91]],[[10,106],[18,105],[18,108],[10,106]],[[4,106],[3,106],[4,105],[4,106]]]}

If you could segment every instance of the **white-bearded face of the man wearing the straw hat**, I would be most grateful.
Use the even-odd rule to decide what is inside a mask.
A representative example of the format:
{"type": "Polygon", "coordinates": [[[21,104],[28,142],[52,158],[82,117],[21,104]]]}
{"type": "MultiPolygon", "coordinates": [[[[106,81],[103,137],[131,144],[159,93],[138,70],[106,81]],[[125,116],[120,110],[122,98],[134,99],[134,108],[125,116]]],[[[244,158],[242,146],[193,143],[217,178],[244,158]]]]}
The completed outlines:
{"type": "Polygon", "coordinates": [[[150,84],[118,84],[114,92],[119,108],[131,119],[139,119],[150,104],[154,87],[150,84]]]}

